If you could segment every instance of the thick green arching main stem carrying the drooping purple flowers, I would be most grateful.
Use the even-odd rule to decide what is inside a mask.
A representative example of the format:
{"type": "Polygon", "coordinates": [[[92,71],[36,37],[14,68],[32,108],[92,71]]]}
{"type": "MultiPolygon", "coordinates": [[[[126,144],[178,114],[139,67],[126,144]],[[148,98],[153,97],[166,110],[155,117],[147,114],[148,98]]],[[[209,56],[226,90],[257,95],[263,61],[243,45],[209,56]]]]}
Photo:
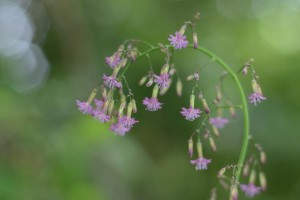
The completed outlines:
{"type": "MultiPolygon", "coordinates": [[[[173,48],[173,46],[170,45],[165,45],[167,48],[173,48]]],[[[189,45],[188,48],[194,49],[192,45],[189,45]]],[[[160,47],[152,47],[143,53],[141,53],[136,59],[139,59],[149,53],[152,53],[154,51],[160,50],[160,47]]],[[[249,111],[248,111],[248,104],[247,104],[247,99],[246,95],[244,92],[244,89],[242,87],[242,84],[240,80],[238,79],[236,73],[219,57],[217,57],[215,54],[210,52],[209,50],[203,48],[203,47],[198,47],[195,49],[197,51],[200,51],[204,54],[206,54],[208,57],[210,57],[212,60],[216,61],[224,70],[228,72],[228,74],[233,78],[235,84],[237,85],[237,88],[239,90],[241,100],[242,100],[242,110],[243,110],[243,116],[244,116],[244,134],[243,134],[243,142],[242,142],[242,147],[239,155],[239,160],[237,163],[237,170],[234,173],[235,180],[238,182],[240,175],[241,175],[241,170],[242,166],[245,162],[246,154],[247,154],[247,149],[248,149],[248,143],[249,143],[249,132],[250,132],[250,127],[249,127],[249,111]]],[[[128,63],[125,67],[125,69],[122,72],[122,76],[126,73],[128,68],[130,67],[131,63],[128,63]]]]}

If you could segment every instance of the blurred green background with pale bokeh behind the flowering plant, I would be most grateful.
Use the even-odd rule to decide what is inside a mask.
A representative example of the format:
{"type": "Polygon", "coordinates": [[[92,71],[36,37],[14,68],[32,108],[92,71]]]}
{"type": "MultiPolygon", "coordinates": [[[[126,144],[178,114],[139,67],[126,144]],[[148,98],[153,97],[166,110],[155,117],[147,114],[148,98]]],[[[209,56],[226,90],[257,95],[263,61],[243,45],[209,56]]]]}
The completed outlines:
{"type": "MultiPolygon", "coordinates": [[[[104,57],[125,39],[167,43],[197,11],[200,45],[236,71],[253,57],[268,98],[250,106],[251,134],[268,155],[268,190],[256,199],[299,199],[299,0],[0,0],[0,199],[208,199],[217,170],[237,162],[242,119],[222,131],[217,153],[205,146],[213,162],[196,172],[187,156],[196,123],[179,115],[190,83],[185,96],[175,98],[173,86],[162,111],[146,112],[140,102],[151,91],[137,86],[147,69],[139,60],[128,76],[140,123],[125,137],[75,105],[110,73],[104,57]]],[[[183,79],[207,62],[191,50],[175,56],[183,79]]],[[[162,64],[155,54],[157,71],[162,64]]],[[[221,72],[212,64],[200,73],[209,100],[221,72]]]]}

